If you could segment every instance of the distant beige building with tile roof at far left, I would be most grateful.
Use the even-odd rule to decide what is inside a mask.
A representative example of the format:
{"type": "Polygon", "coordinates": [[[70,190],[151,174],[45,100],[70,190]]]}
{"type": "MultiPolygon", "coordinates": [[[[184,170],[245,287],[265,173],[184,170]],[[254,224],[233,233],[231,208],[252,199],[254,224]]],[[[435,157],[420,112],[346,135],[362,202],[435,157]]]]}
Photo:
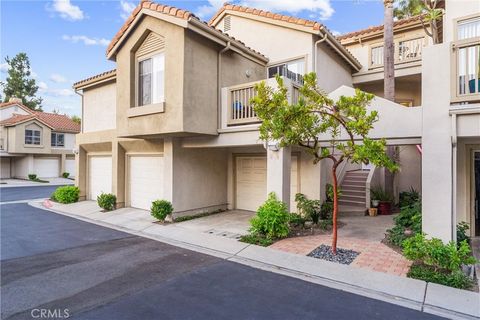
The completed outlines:
{"type": "Polygon", "coordinates": [[[1,178],[75,176],[75,135],[80,125],[65,115],[32,111],[11,99],[0,103],[1,178]]]}

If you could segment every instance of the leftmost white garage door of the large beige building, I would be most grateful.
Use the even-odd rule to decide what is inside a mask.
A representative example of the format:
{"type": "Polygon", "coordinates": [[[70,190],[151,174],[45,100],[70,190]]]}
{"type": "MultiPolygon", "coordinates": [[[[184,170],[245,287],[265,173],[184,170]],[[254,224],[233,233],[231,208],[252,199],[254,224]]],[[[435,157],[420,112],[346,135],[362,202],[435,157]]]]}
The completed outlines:
{"type": "Polygon", "coordinates": [[[112,192],[112,157],[91,156],[88,160],[88,199],[112,192]]]}

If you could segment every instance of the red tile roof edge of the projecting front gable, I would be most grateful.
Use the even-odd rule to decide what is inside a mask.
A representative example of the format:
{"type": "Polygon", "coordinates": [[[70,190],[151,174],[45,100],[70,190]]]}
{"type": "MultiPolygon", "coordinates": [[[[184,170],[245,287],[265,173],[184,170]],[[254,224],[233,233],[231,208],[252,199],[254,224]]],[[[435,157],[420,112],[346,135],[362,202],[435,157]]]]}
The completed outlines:
{"type": "Polygon", "coordinates": [[[233,38],[233,37],[230,37],[228,34],[226,33],[223,33],[221,30],[218,30],[218,29],[215,29],[214,27],[212,26],[209,26],[208,23],[206,23],[205,21],[202,21],[200,20],[197,16],[195,16],[193,13],[191,13],[190,11],[187,11],[187,10],[182,10],[182,9],[178,9],[178,8],[175,8],[175,7],[172,7],[172,6],[167,6],[167,5],[163,5],[163,4],[158,4],[158,3],[155,3],[155,2],[152,2],[152,1],[148,1],[148,0],[142,0],[140,1],[140,3],[138,4],[138,6],[135,8],[135,10],[133,10],[132,14],[130,15],[130,17],[128,17],[127,21],[125,21],[125,23],[123,24],[123,26],[120,28],[120,30],[117,32],[117,34],[113,37],[112,41],[110,42],[110,44],[108,45],[107,47],[107,56],[110,54],[110,52],[113,50],[113,48],[115,47],[115,45],[120,41],[120,39],[122,38],[122,36],[125,34],[125,32],[128,30],[128,28],[130,27],[130,25],[133,23],[133,21],[135,20],[135,18],[137,17],[137,15],[140,13],[140,11],[142,9],[146,9],[146,10],[151,10],[151,11],[155,11],[155,12],[159,12],[159,13],[162,13],[162,14],[165,14],[165,15],[169,15],[169,16],[172,16],[172,17],[176,17],[176,18],[180,18],[180,19],[183,19],[183,20],[186,20],[186,21],[190,21],[191,19],[195,19],[196,21],[198,22],[201,22],[201,23],[204,23],[205,26],[208,26],[210,27],[213,31],[215,31],[216,33],[218,33],[219,35],[221,34],[222,36],[224,37],[228,37],[229,39],[239,43],[241,46],[245,47],[248,51],[250,52],[253,52],[257,55],[261,55],[265,58],[265,60],[267,60],[267,57],[265,57],[264,55],[262,55],[260,52],[258,51],[255,51],[254,49],[250,48],[250,47],[247,47],[245,45],[245,43],[233,38]]]}

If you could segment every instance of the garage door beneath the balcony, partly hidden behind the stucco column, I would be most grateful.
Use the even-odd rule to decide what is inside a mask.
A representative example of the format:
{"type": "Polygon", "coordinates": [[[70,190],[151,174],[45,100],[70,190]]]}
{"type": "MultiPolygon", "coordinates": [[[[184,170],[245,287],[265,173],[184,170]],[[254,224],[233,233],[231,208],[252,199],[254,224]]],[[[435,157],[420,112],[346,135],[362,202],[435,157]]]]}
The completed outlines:
{"type": "MultiPolygon", "coordinates": [[[[267,158],[237,157],[236,207],[256,211],[267,199],[267,158]]],[[[297,183],[297,157],[292,157],[290,176],[290,210],[295,210],[297,183]]]]}

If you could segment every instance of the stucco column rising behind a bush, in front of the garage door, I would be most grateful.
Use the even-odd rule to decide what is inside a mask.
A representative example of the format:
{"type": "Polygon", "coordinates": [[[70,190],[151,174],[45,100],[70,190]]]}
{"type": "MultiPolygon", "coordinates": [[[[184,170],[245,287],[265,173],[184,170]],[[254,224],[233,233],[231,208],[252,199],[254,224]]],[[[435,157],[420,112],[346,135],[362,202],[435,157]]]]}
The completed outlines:
{"type": "MultiPolygon", "coordinates": [[[[273,147],[274,148],[274,147],[273,147]]],[[[290,172],[292,151],[290,147],[273,151],[267,147],[267,194],[274,192],[290,210],[290,172]]]]}

